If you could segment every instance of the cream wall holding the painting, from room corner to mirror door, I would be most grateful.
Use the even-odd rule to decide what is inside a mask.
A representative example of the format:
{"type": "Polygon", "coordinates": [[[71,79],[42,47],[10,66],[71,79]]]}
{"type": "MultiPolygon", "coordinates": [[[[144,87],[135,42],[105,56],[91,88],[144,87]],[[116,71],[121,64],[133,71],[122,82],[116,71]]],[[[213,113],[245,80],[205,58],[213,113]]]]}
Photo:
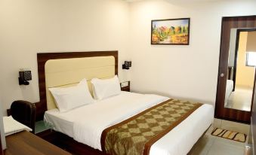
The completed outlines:
{"type": "Polygon", "coordinates": [[[256,2],[152,0],[130,5],[131,90],[214,105],[221,17],[256,14],[256,2]],[[151,20],[190,17],[190,45],[151,45],[151,20]]]}

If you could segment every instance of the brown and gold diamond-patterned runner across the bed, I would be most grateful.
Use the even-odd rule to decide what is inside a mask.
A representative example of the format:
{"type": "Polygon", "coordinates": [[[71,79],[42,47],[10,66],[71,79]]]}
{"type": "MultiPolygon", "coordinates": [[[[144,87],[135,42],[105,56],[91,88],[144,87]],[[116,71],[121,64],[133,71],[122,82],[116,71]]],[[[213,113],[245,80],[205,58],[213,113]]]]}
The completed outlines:
{"type": "Polygon", "coordinates": [[[159,138],[199,108],[201,103],[169,99],[134,117],[103,130],[103,152],[115,154],[147,155],[159,138]]]}

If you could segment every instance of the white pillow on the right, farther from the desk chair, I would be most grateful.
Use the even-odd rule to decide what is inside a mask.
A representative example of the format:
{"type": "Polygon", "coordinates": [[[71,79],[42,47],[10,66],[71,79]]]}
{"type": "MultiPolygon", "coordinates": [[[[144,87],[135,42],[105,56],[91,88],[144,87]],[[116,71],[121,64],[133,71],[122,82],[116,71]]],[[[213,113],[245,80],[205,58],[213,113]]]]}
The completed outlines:
{"type": "Polygon", "coordinates": [[[93,86],[94,99],[105,99],[110,96],[116,96],[121,93],[119,78],[102,80],[94,78],[91,80],[93,86]]]}

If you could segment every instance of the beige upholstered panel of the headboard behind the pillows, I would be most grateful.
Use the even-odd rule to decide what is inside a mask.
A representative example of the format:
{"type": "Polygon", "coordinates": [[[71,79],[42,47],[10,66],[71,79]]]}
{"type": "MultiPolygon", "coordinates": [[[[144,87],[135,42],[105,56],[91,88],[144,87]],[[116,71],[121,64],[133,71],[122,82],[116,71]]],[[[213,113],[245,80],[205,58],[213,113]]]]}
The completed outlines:
{"type": "Polygon", "coordinates": [[[47,109],[56,108],[48,88],[69,87],[83,78],[88,81],[91,92],[92,78],[113,78],[115,75],[114,56],[96,56],[72,59],[49,59],[45,63],[45,88],[47,109]]]}

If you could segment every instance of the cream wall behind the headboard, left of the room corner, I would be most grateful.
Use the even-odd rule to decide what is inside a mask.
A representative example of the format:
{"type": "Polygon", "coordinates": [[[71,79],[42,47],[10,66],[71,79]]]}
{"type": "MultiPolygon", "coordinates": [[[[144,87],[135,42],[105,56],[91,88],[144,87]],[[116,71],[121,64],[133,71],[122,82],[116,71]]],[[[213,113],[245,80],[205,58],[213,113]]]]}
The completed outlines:
{"type": "Polygon", "coordinates": [[[121,0],[2,0],[0,5],[0,96],[39,101],[36,53],[119,50],[119,75],[128,53],[129,7],[121,0]],[[32,70],[19,86],[20,68],[32,70]]]}

